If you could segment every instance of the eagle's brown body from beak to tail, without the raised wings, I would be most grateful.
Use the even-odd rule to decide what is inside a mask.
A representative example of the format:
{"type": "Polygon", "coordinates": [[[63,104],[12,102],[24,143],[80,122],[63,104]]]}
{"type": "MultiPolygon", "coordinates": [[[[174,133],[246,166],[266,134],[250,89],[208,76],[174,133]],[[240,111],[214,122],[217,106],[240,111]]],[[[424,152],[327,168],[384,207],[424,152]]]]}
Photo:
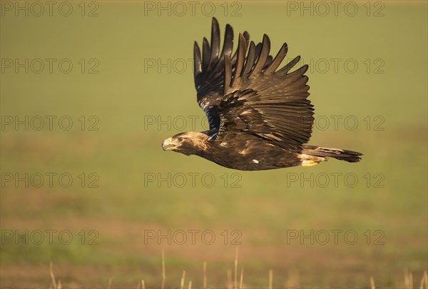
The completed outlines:
{"type": "Polygon", "coordinates": [[[178,133],[171,138],[171,141],[173,139],[182,140],[180,141],[181,145],[175,148],[178,153],[200,156],[220,166],[240,171],[262,171],[290,166],[314,166],[320,161],[327,161],[327,157],[355,162],[360,161],[359,156],[361,156],[360,153],[355,151],[318,146],[303,146],[301,150],[290,151],[280,146],[275,146],[270,141],[258,136],[245,134],[235,135],[229,141],[213,141],[209,140],[209,138],[205,133],[186,132],[178,133]]]}

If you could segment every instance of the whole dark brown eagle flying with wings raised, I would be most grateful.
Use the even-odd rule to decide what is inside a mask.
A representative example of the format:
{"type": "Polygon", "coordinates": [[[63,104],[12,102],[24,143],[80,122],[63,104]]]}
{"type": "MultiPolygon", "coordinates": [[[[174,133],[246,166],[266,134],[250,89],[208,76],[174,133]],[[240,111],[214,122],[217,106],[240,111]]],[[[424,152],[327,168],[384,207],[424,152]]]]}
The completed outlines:
{"type": "Polygon", "coordinates": [[[232,26],[225,27],[220,52],[220,28],[213,18],[210,43],[204,37],[202,51],[196,41],[193,46],[197,101],[209,130],[167,138],[164,151],[200,156],[241,171],[314,166],[327,158],[360,161],[362,153],[305,144],[314,122],[314,108],[307,99],[308,66],[290,72],[300,61],[297,56],[278,69],[287,55],[286,43],[274,58],[266,34],[255,44],[245,31],[232,52],[232,26]]]}

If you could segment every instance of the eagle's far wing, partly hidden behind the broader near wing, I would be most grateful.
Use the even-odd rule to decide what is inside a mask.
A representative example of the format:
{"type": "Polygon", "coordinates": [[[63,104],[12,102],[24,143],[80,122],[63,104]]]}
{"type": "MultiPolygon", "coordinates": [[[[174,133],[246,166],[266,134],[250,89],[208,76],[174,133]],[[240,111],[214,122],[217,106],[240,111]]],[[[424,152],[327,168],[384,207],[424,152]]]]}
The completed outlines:
{"type": "MultiPolygon", "coordinates": [[[[246,45],[250,41],[250,35],[247,31],[243,33],[243,39],[246,45]]],[[[261,44],[255,48],[260,52],[261,44]]],[[[195,87],[197,91],[197,100],[199,106],[205,111],[210,124],[210,131],[218,131],[220,127],[220,116],[218,116],[218,105],[223,98],[223,83],[225,77],[225,58],[230,59],[230,69],[234,71],[236,57],[232,55],[233,51],[233,29],[229,24],[226,25],[223,49],[220,53],[220,28],[217,19],[213,18],[211,26],[211,42],[204,37],[202,46],[202,56],[198,43],[195,41],[193,46],[193,64],[195,87]]],[[[272,61],[272,56],[267,57],[267,62],[272,61]]]]}

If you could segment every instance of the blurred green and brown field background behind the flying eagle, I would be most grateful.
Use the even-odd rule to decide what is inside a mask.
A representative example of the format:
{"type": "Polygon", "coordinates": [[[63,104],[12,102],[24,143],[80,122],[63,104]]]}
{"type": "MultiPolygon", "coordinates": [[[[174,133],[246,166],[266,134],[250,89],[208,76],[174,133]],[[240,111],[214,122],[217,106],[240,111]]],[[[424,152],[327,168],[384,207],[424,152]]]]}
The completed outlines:
{"type": "Polygon", "coordinates": [[[186,285],[202,286],[206,262],[208,285],[219,287],[230,285],[236,248],[247,287],[267,287],[270,269],[277,288],[362,287],[370,276],[402,288],[406,268],[419,285],[428,267],[425,1],[338,1],[337,10],[328,1],[58,1],[51,12],[39,3],[44,11],[1,3],[1,286],[49,285],[51,261],[68,287],[160,286],[164,250],[166,285],[185,270],[186,285]],[[310,143],[361,151],[363,161],[243,172],[163,152],[164,138],[205,129],[191,58],[212,16],[222,39],[229,23],[235,36],[268,34],[271,54],[287,41],[286,59],[311,65],[310,143]],[[168,230],[187,232],[185,244],[158,238],[168,230]],[[188,230],[212,230],[215,242],[197,235],[193,244],[188,230]],[[335,242],[333,230],[358,240],[335,242]]]}

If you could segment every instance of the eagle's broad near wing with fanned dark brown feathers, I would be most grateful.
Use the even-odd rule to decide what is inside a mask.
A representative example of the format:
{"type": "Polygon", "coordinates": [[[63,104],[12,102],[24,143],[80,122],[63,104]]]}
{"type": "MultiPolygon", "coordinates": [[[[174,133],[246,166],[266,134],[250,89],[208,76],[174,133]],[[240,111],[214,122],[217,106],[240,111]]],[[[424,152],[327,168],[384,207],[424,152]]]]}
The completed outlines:
{"type": "MultiPolygon", "coordinates": [[[[275,59],[267,64],[270,40],[263,36],[258,52],[253,41],[247,54],[247,41],[240,34],[235,69],[225,56],[223,98],[218,106],[223,139],[236,133],[249,133],[292,151],[300,151],[312,133],[313,108],[307,86],[307,65],[291,73],[297,56],[277,70],[287,54],[283,44],[275,59]]],[[[233,136],[230,136],[233,137],[233,136]]]]}

